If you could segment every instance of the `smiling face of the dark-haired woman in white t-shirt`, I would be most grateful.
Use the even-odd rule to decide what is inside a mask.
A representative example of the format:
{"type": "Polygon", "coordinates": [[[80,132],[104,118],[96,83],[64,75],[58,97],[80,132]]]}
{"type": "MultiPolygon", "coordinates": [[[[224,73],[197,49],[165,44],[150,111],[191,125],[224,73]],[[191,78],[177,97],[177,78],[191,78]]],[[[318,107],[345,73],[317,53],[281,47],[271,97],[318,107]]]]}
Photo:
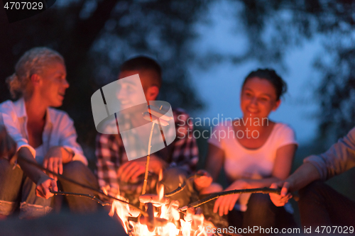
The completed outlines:
{"type": "Polygon", "coordinates": [[[280,106],[275,87],[267,79],[250,78],[241,89],[241,111],[244,118],[267,118],[280,106]]]}

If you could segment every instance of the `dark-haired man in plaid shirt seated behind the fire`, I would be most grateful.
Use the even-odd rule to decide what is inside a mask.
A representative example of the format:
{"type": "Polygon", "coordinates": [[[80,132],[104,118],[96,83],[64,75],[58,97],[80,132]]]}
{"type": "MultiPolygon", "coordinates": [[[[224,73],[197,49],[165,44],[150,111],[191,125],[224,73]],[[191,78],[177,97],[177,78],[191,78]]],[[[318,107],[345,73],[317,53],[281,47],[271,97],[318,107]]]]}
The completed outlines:
{"type": "MultiPolygon", "coordinates": [[[[157,62],[148,57],[135,57],[124,62],[120,69],[119,79],[139,74],[146,101],[156,99],[161,84],[161,71],[157,62]]],[[[120,100],[125,102],[124,98],[120,100]]],[[[165,193],[167,193],[178,188],[186,176],[195,171],[198,149],[192,135],[193,124],[188,119],[187,113],[180,109],[173,109],[173,116],[177,137],[167,147],[151,154],[146,193],[156,193],[155,186],[160,172],[163,172],[163,179],[160,183],[164,185],[165,193]]],[[[97,135],[96,156],[99,186],[107,189],[112,196],[120,194],[129,199],[130,203],[138,204],[146,169],[146,158],[129,161],[121,135],[101,133],[97,135]]],[[[180,206],[187,204],[190,201],[192,188],[189,185],[172,198],[180,201],[180,206]]]]}

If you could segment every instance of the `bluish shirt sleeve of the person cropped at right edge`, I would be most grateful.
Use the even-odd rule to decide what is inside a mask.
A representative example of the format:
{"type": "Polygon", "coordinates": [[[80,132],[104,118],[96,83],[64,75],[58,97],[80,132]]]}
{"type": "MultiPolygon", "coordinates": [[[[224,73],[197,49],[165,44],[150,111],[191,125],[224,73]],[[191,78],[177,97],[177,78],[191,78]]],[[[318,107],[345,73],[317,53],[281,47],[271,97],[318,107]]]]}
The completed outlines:
{"type": "Polygon", "coordinates": [[[355,167],[355,128],[340,138],[327,152],[307,157],[303,162],[313,164],[320,172],[322,180],[330,179],[355,167]]]}

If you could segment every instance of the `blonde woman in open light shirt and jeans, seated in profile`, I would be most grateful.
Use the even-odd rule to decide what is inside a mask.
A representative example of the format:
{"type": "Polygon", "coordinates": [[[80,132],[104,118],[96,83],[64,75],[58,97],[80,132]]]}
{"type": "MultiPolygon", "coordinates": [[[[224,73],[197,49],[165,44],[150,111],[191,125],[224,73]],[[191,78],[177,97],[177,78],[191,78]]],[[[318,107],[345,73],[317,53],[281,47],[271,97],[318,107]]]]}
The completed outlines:
{"type": "MultiPolygon", "coordinates": [[[[18,60],[15,73],[6,80],[11,95],[18,100],[0,104],[0,126],[16,142],[15,157],[10,155],[7,159],[16,159],[17,164],[13,166],[0,159],[1,218],[11,215],[18,206],[19,218],[35,218],[52,210],[50,190],[58,191],[57,178],[47,176],[24,159],[82,184],[97,185],[77,144],[72,120],[67,113],[51,108],[62,106],[69,87],[66,76],[64,60],[58,52],[35,47],[18,60]]],[[[8,142],[7,135],[1,137],[5,140],[0,143],[8,142]]],[[[92,194],[64,181],[60,184],[63,191],[92,194]]],[[[67,203],[75,213],[89,213],[97,208],[97,203],[89,198],[67,196],[67,203]]]]}

